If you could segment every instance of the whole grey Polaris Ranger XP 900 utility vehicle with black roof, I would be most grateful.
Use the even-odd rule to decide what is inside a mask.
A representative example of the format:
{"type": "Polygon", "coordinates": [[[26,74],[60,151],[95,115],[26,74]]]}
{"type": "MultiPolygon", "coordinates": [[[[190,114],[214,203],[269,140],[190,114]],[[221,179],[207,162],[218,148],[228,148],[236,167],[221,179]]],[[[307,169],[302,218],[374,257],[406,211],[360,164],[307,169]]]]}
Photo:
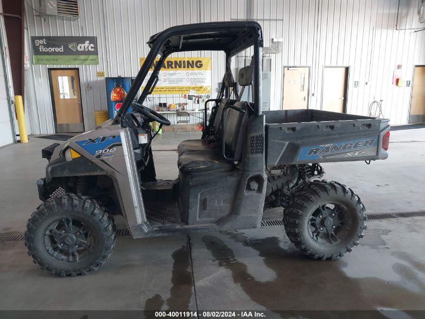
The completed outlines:
{"type": "Polygon", "coordinates": [[[176,26],[147,43],[150,52],[116,117],[42,150],[49,161],[37,181],[43,203],[28,221],[25,242],[36,264],[61,277],[97,270],[115,245],[114,215],[140,238],[256,228],[265,210],[282,207],[286,234],[308,256],[335,259],[358,244],[366,228],[360,198],[342,183],[313,178],[323,175],[321,162],[386,159],[387,119],[312,109],[262,112],[257,22],[176,26]],[[178,146],[179,176],[157,180],[151,150],[157,132],[150,123],[170,122],[143,103],[169,54],[200,50],[224,51],[221,88],[205,103],[202,138],[178,146]],[[230,62],[241,52],[253,56],[237,85],[230,62]],[[242,100],[238,88],[251,92],[252,101],[242,100]]]}

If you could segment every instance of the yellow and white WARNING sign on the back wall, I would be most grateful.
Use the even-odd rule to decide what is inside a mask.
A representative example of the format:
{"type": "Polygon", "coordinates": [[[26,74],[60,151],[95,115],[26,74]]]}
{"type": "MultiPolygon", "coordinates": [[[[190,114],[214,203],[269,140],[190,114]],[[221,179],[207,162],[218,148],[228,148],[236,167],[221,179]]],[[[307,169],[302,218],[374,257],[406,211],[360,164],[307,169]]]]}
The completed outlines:
{"type": "MultiPolygon", "coordinates": [[[[140,58],[140,66],[145,61],[140,58]]],[[[154,66],[158,63],[155,59],[154,66]]],[[[153,68],[143,82],[146,84],[153,68]]],[[[144,86],[142,86],[144,89],[144,86]]],[[[196,94],[211,93],[211,57],[169,57],[165,59],[159,72],[159,80],[152,94],[196,94]]]]}

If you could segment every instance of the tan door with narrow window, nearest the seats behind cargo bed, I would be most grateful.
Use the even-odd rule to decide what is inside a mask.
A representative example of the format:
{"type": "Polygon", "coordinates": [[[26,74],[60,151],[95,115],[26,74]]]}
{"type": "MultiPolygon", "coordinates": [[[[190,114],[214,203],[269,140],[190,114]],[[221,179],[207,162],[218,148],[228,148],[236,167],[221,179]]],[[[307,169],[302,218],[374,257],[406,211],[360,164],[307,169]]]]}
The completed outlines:
{"type": "Polygon", "coordinates": [[[285,67],[283,69],[283,109],[303,109],[308,105],[308,67],[285,67]]]}

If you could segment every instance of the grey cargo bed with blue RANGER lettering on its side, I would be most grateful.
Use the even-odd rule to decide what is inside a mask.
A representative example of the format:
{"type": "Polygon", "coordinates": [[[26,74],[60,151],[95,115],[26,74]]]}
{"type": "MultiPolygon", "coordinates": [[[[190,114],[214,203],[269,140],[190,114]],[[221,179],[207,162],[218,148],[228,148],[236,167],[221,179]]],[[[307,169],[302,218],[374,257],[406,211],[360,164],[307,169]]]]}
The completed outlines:
{"type": "Polygon", "coordinates": [[[321,110],[265,111],[266,163],[281,164],[386,159],[388,119],[321,110]]]}

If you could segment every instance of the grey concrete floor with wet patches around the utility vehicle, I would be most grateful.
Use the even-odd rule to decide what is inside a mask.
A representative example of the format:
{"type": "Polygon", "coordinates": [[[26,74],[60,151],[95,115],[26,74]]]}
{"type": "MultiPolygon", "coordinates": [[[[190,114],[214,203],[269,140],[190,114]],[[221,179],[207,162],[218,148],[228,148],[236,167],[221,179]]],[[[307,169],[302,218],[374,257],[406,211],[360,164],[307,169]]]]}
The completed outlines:
{"type": "MultiPolygon", "coordinates": [[[[175,149],[199,136],[165,133],[152,148],[175,149]]],[[[40,150],[51,143],[30,137],[0,149],[0,235],[23,233],[40,204],[40,150]]],[[[154,158],[158,178],[176,178],[176,152],[154,158]]],[[[391,132],[388,160],[323,166],[325,177],[353,188],[369,213],[384,213],[424,210],[424,163],[425,129],[417,129],[391,132]]],[[[353,252],[327,262],[300,256],[278,226],[118,237],[98,272],[76,278],[41,271],[23,242],[0,242],[0,309],[425,310],[424,229],[422,217],[369,221],[353,252]]]]}

